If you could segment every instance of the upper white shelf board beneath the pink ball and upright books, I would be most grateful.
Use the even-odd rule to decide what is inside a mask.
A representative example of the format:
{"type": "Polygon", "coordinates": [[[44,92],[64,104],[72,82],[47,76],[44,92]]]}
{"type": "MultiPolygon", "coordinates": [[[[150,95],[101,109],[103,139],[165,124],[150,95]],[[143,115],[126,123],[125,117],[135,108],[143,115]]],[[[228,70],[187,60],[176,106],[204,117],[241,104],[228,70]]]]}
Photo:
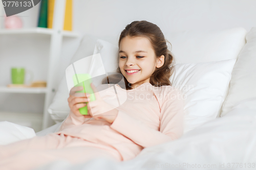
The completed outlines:
{"type": "MultiPolygon", "coordinates": [[[[45,34],[45,35],[52,35],[53,30],[48,29],[48,28],[28,28],[28,29],[13,29],[13,30],[8,30],[8,29],[2,29],[0,30],[0,35],[6,35],[6,34],[45,34]]],[[[80,36],[79,33],[75,33],[72,31],[62,31],[61,34],[65,37],[73,37],[77,38],[80,36]]]]}

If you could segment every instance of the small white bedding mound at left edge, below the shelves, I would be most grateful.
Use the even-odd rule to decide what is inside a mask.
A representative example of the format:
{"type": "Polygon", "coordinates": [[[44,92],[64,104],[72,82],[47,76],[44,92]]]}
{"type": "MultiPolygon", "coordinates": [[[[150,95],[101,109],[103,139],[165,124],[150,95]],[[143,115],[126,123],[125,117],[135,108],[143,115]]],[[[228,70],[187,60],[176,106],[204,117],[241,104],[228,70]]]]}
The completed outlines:
{"type": "Polygon", "coordinates": [[[11,122],[0,122],[0,145],[13,143],[19,140],[36,136],[32,128],[17,125],[11,122]]]}

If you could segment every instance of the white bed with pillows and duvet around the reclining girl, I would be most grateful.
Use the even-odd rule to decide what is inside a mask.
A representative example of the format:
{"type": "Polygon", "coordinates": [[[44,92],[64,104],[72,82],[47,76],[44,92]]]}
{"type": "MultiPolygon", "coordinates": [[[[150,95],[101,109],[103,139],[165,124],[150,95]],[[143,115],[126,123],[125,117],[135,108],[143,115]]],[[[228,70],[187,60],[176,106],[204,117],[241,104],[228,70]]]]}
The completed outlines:
{"type": "MultiPolygon", "coordinates": [[[[165,38],[177,59],[170,81],[186,97],[184,135],[144,148],[129,161],[99,158],[75,165],[55,161],[37,170],[256,168],[256,27],[249,32],[242,27],[175,31],[165,38]]],[[[106,72],[112,72],[116,44],[115,36],[85,34],[69,64],[100,54],[106,72]]],[[[93,68],[99,67],[95,64],[93,68]]],[[[67,79],[62,75],[48,108],[55,125],[35,133],[28,127],[0,122],[0,144],[57,132],[70,111],[67,79]]]]}

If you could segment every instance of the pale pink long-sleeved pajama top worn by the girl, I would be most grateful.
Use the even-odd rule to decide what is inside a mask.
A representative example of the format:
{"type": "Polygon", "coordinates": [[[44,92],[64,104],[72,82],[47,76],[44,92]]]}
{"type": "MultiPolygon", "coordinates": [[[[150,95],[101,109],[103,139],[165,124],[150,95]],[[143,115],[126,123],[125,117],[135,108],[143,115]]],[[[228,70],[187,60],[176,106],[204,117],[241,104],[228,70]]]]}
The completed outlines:
{"type": "Polygon", "coordinates": [[[108,92],[100,91],[100,86],[106,85],[99,85],[97,89],[101,98],[118,110],[112,124],[104,119],[69,114],[56,133],[109,145],[124,161],[136,157],[143,148],[183,135],[184,99],[178,88],[143,83],[135,89],[125,90],[114,84],[104,88],[108,92]]]}

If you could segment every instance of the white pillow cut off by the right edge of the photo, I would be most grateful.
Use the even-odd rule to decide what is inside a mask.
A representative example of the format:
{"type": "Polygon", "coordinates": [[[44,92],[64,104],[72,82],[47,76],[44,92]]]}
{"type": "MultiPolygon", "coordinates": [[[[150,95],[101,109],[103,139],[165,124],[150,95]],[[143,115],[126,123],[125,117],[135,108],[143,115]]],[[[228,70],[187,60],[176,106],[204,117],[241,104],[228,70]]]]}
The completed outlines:
{"type": "Polygon", "coordinates": [[[221,116],[226,115],[240,101],[256,98],[256,27],[248,32],[246,41],[234,65],[229,93],[221,116]]]}

